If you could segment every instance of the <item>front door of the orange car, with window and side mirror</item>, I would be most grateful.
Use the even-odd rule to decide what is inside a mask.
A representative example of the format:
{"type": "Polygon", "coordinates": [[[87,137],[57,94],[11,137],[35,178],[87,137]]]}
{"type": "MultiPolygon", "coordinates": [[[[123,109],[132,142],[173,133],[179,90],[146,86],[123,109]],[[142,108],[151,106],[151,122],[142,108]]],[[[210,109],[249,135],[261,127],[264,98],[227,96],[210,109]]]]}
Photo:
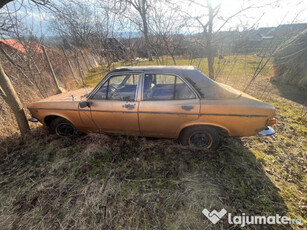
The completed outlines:
{"type": "Polygon", "coordinates": [[[136,101],[139,74],[113,74],[91,96],[92,120],[100,132],[139,134],[136,101]]]}

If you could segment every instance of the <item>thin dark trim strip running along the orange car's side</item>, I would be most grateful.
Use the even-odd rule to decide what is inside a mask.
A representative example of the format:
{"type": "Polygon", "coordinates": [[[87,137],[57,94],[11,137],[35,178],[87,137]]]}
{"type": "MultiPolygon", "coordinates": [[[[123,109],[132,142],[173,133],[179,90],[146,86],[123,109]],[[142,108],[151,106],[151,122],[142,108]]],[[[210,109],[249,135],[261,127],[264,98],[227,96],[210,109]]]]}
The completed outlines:
{"type": "MultiPolygon", "coordinates": [[[[31,108],[31,110],[68,110],[78,111],[77,109],[55,109],[55,108],[31,108]]],[[[173,112],[155,112],[155,111],[114,111],[114,110],[90,110],[83,109],[82,112],[102,112],[102,113],[143,113],[143,114],[172,114],[172,115],[200,115],[200,116],[226,116],[226,117],[268,117],[268,115],[257,114],[220,114],[220,113],[173,113],[173,112]]]]}

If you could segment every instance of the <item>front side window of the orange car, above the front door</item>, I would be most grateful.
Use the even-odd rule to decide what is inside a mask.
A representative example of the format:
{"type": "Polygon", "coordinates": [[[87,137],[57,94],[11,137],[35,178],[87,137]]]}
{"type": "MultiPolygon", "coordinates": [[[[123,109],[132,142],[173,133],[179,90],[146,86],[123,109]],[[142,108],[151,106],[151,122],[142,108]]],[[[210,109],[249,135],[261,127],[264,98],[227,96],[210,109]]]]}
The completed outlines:
{"type": "Polygon", "coordinates": [[[135,100],[138,74],[124,74],[110,77],[95,93],[95,100],[135,100]]]}

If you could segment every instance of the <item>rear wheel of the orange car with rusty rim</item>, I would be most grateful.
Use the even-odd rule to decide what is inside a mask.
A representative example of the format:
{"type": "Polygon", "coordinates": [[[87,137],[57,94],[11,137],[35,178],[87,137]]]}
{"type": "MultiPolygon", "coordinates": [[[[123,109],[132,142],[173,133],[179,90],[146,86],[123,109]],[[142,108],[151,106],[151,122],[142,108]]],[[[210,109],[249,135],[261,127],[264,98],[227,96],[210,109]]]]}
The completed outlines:
{"type": "Polygon", "coordinates": [[[179,141],[183,145],[217,150],[220,147],[221,138],[216,128],[194,126],[183,130],[179,141]]]}

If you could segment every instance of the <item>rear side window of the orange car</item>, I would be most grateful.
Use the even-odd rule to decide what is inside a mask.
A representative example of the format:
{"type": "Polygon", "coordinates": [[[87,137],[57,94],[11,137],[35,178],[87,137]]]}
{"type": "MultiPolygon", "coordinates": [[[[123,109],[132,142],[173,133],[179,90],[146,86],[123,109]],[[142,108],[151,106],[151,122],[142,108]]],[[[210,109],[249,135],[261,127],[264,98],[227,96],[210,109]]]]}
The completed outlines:
{"type": "Polygon", "coordinates": [[[143,100],[194,99],[194,92],[178,76],[145,74],[143,100]]]}

